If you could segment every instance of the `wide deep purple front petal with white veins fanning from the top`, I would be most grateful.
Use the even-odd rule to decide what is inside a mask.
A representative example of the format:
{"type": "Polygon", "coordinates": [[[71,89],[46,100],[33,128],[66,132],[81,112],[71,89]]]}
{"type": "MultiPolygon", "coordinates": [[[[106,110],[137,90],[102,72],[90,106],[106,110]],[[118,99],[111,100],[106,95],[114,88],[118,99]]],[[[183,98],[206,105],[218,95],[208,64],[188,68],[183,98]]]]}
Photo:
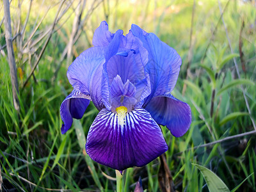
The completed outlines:
{"type": "Polygon", "coordinates": [[[88,132],[86,152],[96,162],[116,170],[144,166],[168,150],[159,125],[143,108],[125,116],[102,109],[88,132]]]}

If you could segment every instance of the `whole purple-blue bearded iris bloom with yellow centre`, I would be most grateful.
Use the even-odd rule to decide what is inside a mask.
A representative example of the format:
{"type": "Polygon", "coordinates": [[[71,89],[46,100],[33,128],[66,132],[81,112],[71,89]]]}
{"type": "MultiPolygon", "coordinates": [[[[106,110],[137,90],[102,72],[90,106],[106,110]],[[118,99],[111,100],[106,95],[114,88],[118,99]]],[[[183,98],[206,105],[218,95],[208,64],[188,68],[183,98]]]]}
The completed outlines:
{"type": "Polygon", "coordinates": [[[68,67],[74,90],[60,107],[61,133],[70,129],[72,118],[82,118],[92,101],[99,114],[88,132],[87,154],[120,171],[144,166],[168,150],[159,125],[179,137],[191,124],[189,105],[171,94],[180,56],[135,24],[124,36],[122,30],[109,32],[103,21],[92,44],[68,67]]]}

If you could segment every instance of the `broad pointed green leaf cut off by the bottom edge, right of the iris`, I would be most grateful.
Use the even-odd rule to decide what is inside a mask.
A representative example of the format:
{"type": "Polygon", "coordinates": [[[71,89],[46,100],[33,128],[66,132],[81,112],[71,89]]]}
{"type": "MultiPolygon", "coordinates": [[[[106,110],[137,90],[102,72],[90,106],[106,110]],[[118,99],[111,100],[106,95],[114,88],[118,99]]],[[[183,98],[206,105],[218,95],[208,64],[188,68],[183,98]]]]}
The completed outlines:
{"type": "Polygon", "coordinates": [[[201,166],[199,164],[194,164],[194,163],[192,164],[195,165],[196,168],[198,168],[202,173],[202,175],[204,176],[205,182],[210,192],[230,191],[226,186],[226,184],[214,172],[212,172],[208,168],[205,168],[204,166],[201,166]]]}

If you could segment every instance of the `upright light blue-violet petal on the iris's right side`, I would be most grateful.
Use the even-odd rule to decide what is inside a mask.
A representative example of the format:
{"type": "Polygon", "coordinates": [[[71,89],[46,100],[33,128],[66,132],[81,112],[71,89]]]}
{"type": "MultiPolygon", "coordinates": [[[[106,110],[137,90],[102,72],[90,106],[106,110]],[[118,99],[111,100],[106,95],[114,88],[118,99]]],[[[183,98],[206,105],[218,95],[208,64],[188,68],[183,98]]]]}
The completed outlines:
{"type": "Polygon", "coordinates": [[[152,97],[172,92],[179,76],[181,59],[175,49],[161,42],[154,33],[146,33],[134,24],[131,31],[148,51],[145,71],[150,76],[152,93],[145,103],[147,104],[152,97]]]}

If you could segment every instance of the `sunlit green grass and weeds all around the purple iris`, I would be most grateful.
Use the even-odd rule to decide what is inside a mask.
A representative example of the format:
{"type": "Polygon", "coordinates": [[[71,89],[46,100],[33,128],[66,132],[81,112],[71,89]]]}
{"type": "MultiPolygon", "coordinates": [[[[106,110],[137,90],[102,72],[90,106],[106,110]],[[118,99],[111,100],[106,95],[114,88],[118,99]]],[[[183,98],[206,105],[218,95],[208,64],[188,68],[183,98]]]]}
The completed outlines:
{"type": "MultiPolygon", "coordinates": [[[[193,1],[173,1],[172,4],[164,3],[165,1],[132,2],[101,2],[88,17],[79,39],[73,45],[71,60],[90,47],[93,31],[101,20],[108,19],[109,30],[112,32],[124,29],[124,33],[128,33],[131,24],[135,23],[147,32],[156,33],[182,57],[179,79],[172,93],[180,100],[188,102],[193,115],[189,131],[181,138],[173,137],[166,127],[162,127],[169,146],[165,153],[166,163],[172,173],[175,189],[208,191],[204,176],[195,166],[200,164],[218,175],[230,190],[239,186],[237,191],[256,191],[255,132],[225,140],[230,136],[253,131],[252,120],[256,121],[255,4],[238,0],[221,1],[222,10],[227,4],[223,20],[234,50],[232,53],[218,1],[196,1],[194,11],[193,1]],[[243,58],[240,58],[239,46],[243,58]],[[233,58],[237,61],[240,79],[233,58]],[[252,111],[252,119],[241,86],[252,111]],[[220,142],[198,147],[218,140],[220,142]]],[[[42,6],[46,10],[49,4],[51,3],[46,2],[41,5],[40,2],[33,1],[24,42],[35,26],[36,8],[42,6]]],[[[64,8],[67,4],[64,4],[64,8]]],[[[58,5],[53,6],[45,16],[33,40],[51,26],[58,5]]],[[[63,123],[60,118],[60,104],[72,91],[66,76],[71,62],[67,63],[66,57],[62,60],[61,54],[70,38],[74,19],[72,8],[76,8],[76,5],[77,2],[74,2],[56,25],[58,31],[53,33],[36,67],[35,77],[32,76],[24,88],[23,84],[45,38],[41,44],[35,46],[36,51],[31,52],[31,65],[29,54],[20,53],[18,39],[13,41],[20,88],[19,115],[12,102],[8,58],[0,56],[0,189],[3,191],[114,191],[116,188],[113,180],[115,170],[93,162],[84,149],[88,129],[98,113],[93,104],[86,109],[81,120],[74,121],[66,134],[62,135],[60,132],[63,123]]],[[[92,5],[92,1],[86,4],[82,18],[92,5]]],[[[13,1],[13,34],[16,29],[14,26],[17,26],[17,6],[17,1],[13,1]]],[[[23,3],[22,8],[27,12],[28,5],[23,3]]],[[[26,12],[21,14],[22,24],[26,19],[26,12]]],[[[0,13],[3,15],[3,8],[0,13]]],[[[40,15],[36,24],[42,17],[40,15]]],[[[0,42],[3,46],[3,26],[0,31],[0,42]]],[[[3,51],[7,54],[6,49],[3,51]]],[[[159,168],[159,158],[145,167],[129,168],[122,180],[124,191],[133,191],[139,177],[142,179],[143,189],[159,191],[159,168]]]]}

